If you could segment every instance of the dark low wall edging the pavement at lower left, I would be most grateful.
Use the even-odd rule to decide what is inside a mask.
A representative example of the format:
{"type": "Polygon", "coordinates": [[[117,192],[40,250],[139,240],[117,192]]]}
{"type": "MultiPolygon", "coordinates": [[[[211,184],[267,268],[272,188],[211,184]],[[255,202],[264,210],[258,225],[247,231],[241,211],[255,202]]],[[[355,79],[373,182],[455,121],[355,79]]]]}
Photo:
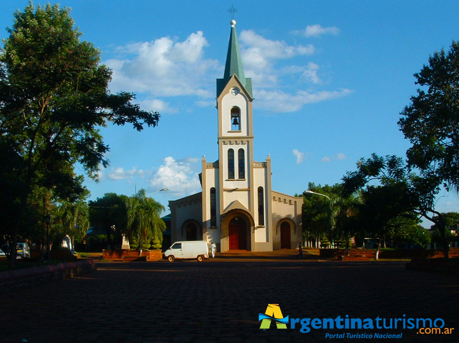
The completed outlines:
{"type": "Polygon", "coordinates": [[[33,287],[52,280],[73,278],[96,270],[92,259],[0,272],[0,293],[33,287]]]}

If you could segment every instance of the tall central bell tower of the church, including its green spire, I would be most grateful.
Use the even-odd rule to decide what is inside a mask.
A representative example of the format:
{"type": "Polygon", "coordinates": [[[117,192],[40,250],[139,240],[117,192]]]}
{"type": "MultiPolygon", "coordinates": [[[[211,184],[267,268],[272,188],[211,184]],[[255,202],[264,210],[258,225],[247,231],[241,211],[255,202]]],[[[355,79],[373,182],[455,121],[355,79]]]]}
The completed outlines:
{"type": "Polygon", "coordinates": [[[254,214],[252,82],[244,75],[235,20],[223,79],[217,79],[220,209],[238,200],[254,214]]]}

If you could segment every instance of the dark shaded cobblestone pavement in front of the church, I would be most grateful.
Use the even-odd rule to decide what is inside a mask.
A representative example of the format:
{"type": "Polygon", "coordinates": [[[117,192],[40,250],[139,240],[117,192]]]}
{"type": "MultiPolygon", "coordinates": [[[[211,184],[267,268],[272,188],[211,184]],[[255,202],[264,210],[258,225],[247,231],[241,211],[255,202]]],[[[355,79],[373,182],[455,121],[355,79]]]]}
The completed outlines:
{"type": "Polygon", "coordinates": [[[98,262],[92,274],[0,296],[0,342],[459,342],[459,280],[404,261],[329,262],[219,254],[215,259],[98,262]],[[442,318],[452,335],[416,329],[260,330],[279,304],[290,318],[442,318]],[[326,339],[339,333],[401,339],[326,339]]]}

